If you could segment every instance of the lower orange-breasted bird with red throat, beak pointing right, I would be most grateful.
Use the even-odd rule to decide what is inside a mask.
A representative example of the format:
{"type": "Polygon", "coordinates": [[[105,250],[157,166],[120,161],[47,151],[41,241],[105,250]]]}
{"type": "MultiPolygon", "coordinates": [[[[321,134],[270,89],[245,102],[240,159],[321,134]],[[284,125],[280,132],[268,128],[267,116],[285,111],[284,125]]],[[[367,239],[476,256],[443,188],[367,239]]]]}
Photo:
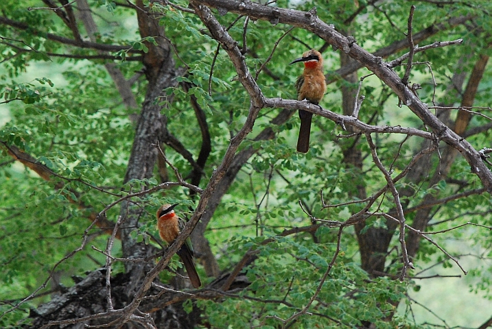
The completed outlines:
{"type": "MultiPolygon", "coordinates": [[[[161,239],[163,239],[168,245],[174,242],[185,226],[183,219],[180,219],[176,215],[176,212],[174,212],[174,207],[176,206],[178,206],[178,204],[163,204],[159,210],[157,210],[156,214],[157,230],[159,230],[161,239]]],[[[196,273],[196,268],[193,263],[193,249],[191,249],[191,241],[189,241],[189,239],[183,243],[177,254],[179,258],[181,258],[183,265],[185,265],[185,269],[193,287],[200,287],[202,282],[200,281],[198,273],[196,273]]]]}

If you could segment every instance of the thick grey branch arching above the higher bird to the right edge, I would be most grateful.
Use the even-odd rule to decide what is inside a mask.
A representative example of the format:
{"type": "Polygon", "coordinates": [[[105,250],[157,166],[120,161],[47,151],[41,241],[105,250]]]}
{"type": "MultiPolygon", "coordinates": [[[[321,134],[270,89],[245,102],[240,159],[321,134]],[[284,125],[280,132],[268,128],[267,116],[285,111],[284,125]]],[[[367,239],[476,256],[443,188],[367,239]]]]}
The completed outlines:
{"type": "MultiPolygon", "coordinates": [[[[279,23],[301,27],[320,36],[320,38],[329,42],[329,44],[336,49],[344,51],[351,58],[357,60],[366,66],[367,69],[375,73],[382,82],[393,90],[404,105],[408,106],[408,108],[412,110],[412,112],[414,112],[427,127],[432,129],[432,132],[441,141],[444,141],[450,147],[459,151],[469,163],[471,172],[478,175],[478,178],[480,178],[482,184],[487,188],[487,191],[492,193],[492,173],[480,158],[478,151],[476,151],[468,141],[460,138],[458,134],[454,133],[444,123],[438,120],[434,114],[429,111],[427,104],[423,103],[416,95],[414,95],[413,90],[403,84],[397,73],[382,62],[381,58],[377,58],[371,53],[368,53],[368,51],[362,49],[362,47],[359,47],[359,45],[354,42],[353,38],[344,37],[333,27],[327,25],[325,22],[318,19],[316,15],[309,12],[274,8],[259,5],[257,3],[246,3],[239,0],[200,0],[196,2],[211,7],[224,8],[224,10],[234,12],[235,14],[248,15],[254,19],[266,21],[272,21],[273,19],[275,21],[278,20],[279,23]]],[[[220,36],[214,36],[214,38],[218,37],[220,36]]],[[[235,45],[234,42],[224,44],[223,47],[233,47],[233,45],[235,45]]],[[[239,77],[241,78],[241,75],[239,75],[239,77]]],[[[252,97],[254,97],[253,95],[257,95],[257,90],[250,89],[249,84],[244,86],[252,97]]],[[[260,104],[261,102],[259,105],[260,104]]],[[[309,110],[308,112],[314,113],[312,110],[309,110]]]]}

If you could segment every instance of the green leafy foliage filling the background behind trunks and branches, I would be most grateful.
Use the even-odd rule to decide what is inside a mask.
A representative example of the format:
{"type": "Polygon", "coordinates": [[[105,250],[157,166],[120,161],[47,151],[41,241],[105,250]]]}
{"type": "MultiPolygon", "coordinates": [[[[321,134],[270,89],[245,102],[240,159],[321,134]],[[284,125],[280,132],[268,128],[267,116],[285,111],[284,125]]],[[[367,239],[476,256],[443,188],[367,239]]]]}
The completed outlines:
{"type": "MultiPolygon", "coordinates": [[[[411,4],[417,5],[414,32],[446,22],[452,17],[475,16],[473,24],[480,27],[479,30],[467,25],[444,28],[443,32],[432,36],[432,40],[421,44],[463,38],[463,45],[432,49],[418,53],[414,58],[414,62],[424,63],[414,65],[411,76],[412,83],[422,86],[418,92],[422,101],[430,105],[435,101],[457,106],[462,95],[454,90],[449,91],[450,78],[458,69],[470,72],[478,55],[490,51],[492,5],[485,0],[465,2],[435,5],[430,1],[377,1],[376,5],[358,13],[355,19],[351,19],[355,10],[354,1],[277,1],[276,5],[297,10],[309,10],[316,6],[320,19],[335,25],[340,31],[349,30],[358,45],[368,51],[377,51],[405,38],[411,4]],[[460,62],[463,58],[466,60],[460,62]]],[[[30,28],[15,29],[0,24],[0,53],[3,58],[0,67],[0,141],[3,143],[0,158],[3,191],[0,194],[0,313],[43,284],[54,266],[80,246],[81,236],[91,223],[87,220],[91,212],[101,211],[104,206],[114,202],[117,195],[138,191],[139,184],[146,187],[158,184],[157,173],[154,180],[123,184],[137,125],[131,116],[139,114],[140,109],[124,106],[104,68],[109,60],[84,59],[84,56],[95,55],[96,52],[92,49],[72,49],[44,38],[45,34],[66,38],[72,36],[53,11],[27,11],[29,6],[42,7],[41,1],[3,0],[3,3],[3,16],[25,23],[30,28]],[[80,58],[54,56],[54,53],[71,53],[80,58]],[[54,179],[43,180],[14,161],[8,153],[8,147],[12,146],[44,164],[55,174],[54,179]],[[85,206],[81,207],[80,204],[85,206]]],[[[131,45],[134,50],[148,51],[147,44],[138,34],[132,8],[112,1],[89,3],[99,27],[97,42],[131,45]]],[[[174,3],[183,7],[188,5],[186,1],[174,3]]],[[[360,1],[360,6],[364,5],[364,1],[360,1]]],[[[172,99],[163,103],[165,108],[162,114],[167,117],[169,131],[194,156],[198,155],[202,141],[196,116],[189,106],[191,96],[196,97],[207,115],[212,149],[204,167],[205,179],[200,183],[200,187],[204,188],[222,161],[231,136],[244,124],[250,105],[249,95],[235,78],[234,66],[225,51],[219,51],[212,67],[217,42],[206,32],[198,16],[157,2],[153,3],[153,8],[159,14],[159,23],[165,27],[166,37],[173,43],[176,66],[185,65],[188,68],[188,75],[180,77],[179,82],[189,82],[193,86],[187,91],[181,86],[163,90],[163,95],[172,95],[172,99]]],[[[231,13],[216,16],[226,27],[237,18],[231,13]]],[[[239,19],[229,29],[235,40],[241,40],[240,44],[244,20],[244,17],[239,19]]],[[[253,73],[266,62],[274,42],[289,28],[267,21],[249,21],[246,34],[248,52],[245,56],[253,73]]],[[[80,29],[84,31],[82,26],[80,29]]],[[[152,43],[151,39],[146,40],[152,43]]],[[[288,63],[307,49],[305,45],[320,49],[324,41],[303,29],[294,29],[279,42],[266,66],[268,71],[263,69],[257,79],[266,97],[296,98],[294,82],[301,73],[301,66],[290,66],[288,63]]],[[[390,59],[401,56],[405,51],[407,49],[394,53],[390,59]]],[[[111,62],[116,64],[126,79],[141,74],[143,65],[138,60],[131,60],[134,54],[114,51],[111,55],[121,58],[111,62]]],[[[323,52],[323,57],[325,73],[330,76],[340,67],[340,51],[328,48],[323,52]]],[[[403,76],[404,69],[405,66],[401,66],[396,71],[403,76]]],[[[366,69],[360,69],[358,76],[369,73],[366,69]]],[[[475,106],[490,106],[491,76],[488,66],[475,106]]],[[[358,84],[349,84],[340,77],[336,79],[336,83],[329,84],[320,105],[342,113],[340,88],[357,88],[358,84]]],[[[143,102],[147,87],[143,75],[132,84],[138,104],[143,102]]],[[[360,111],[361,121],[373,125],[425,129],[406,107],[397,106],[397,97],[376,77],[364,80],[361,94],[366,97],[360,111]]],[[[253,132],[240,147],[255,147],[258,151],[239,171],[207,230],[206,237],[222,271],[233,269],[248,249],[258,253],[257,260],[247,268],[246,277],[250,284],[246,289],[233,297],[224,295],[222,300],[196,302],[211,328],[278,328],[277,317],[287,319],[295,310],[302,309],[318,289],[320,278],[336,252],[338,229],[320,228],[313,235],[280,236],[284,229],[312,223],[299,206],[299,200],[317,219],[345,221],[362,208],[360,204],[323,208],[320,191],[323,191],[323,198],[329,204],[339,204],[355,199],[354,195],[360,187],[371,195],[386,184],[382,173],[375,168],[363,137],[360,138],[364,141],[356,147],[364,154],[362,170],[359,170],[343,162],[342,150],[355,143],[355,138],[339,138],[338,135],[344,134],[340,125],[314,116],[311,149],[306,155],[298,154],[294,149],[299,125],[297,115],[294,114],[285,124],[275,126],[270,120],[277,113],[277,109],[261,110],[253,132]],[[254,141],[254,136],[265,127],[274,129],[275,138],[254,141]],[[270,237],[273,242],[262,244],[270,237]]],[[[484,114],[490,116],[491,112],[484,114]]],[[[452,113],[454,117],[456,110],[452,113]]],[[[489,119],[473,116],[469,129],[487,124],[490,124],[489,119]]],[[[393,176],[406,167],[422,143],[421,138],[406,139],[406,136],[396,134],[378,134],[373,138],[379,158],[386,168],[393,169],[393,176]]],[[[476,149],[491,146],[488,132],[474,134],[467,140],[476,149]]],[[[186,179],[192,170],[189,162],[171,148],[166,149],[166,156],[186,179]]],[[[439,165],[439,154],[434,152],[428,158],[429,174],[438,170],[439,165]]],[[[171,180],[176,180],[174,175],[171,180]]],[[[403,197],[403,201],[408,202],[407,208],[419,206],[428,194],[434,193],[443,199],[481,187],[480,180],[470,173],[469,165],[462,158],[454,162],[447,178],[438,184],[431,186],[429,180],[423,180],[417,186],[413,184],[408,180],[397,183],[397,188],[414,187],[411,197],[403,197]]],[[[196,204],[196,197],[190,197],[189,191],[180,187],[174,187],[168,193],[154,193],[136,200],[146,213],[140,221],[141,226],[135,228],[134,236],[139,236],[137,241],[141,239],[158,245],[149,236],[158,236],[154,227],[154,210],[165,201],[179,202],[180,212],[191,215],[187,207],[196,204]]],[[[432,280],[432,284],[412,278],[395,280],[401,269],[397,232],[388,250],[386,267],[390,275],[370,276],[360,267],[357,236],[353,228],[346,228],[341,236],[340,254],[318,298],[308,310],[314,316],[299,317],[295,328],[350,328],[362,326],[362,321],[371,321],[376,328],[423,328],[425,321],[445,323],[447,326],[478,326],[490,316],[483,305],[490,305],[487,300],[491,298],[491,203],[490,195],[484,193],[438,205],[427,228],[436,232],[461,223],[480,224],[480,227],[465,226],[436,234],[432,239],[459,258],[460,262],[467,264],[467,281],[454,293],[476,293],[471,295],[467,304],[476,305],[483,313],[467,317],[467,322],[460,322],[452,314],[456,310],[449,310],[445,300],[442,304],[432,305],[437,318],[428,313],[413,313],[414,308],[418,307],[414,300],[428,295],[436,297],[436,291],[441,291],[438,289],[454,287],[449,282],[456,279],[427,279],[427,282],[432,280]],[[468,261],[469,258],[473,261],[468,261]],[[413,292],[419,289],[418,293],[413,292]]],[[[379,211],[390,211],[393,207],[393,199],[388,192],[381,199],[379,211]]],[[[108,219],[113,223],[118,215],[116,207],[108,210],[108,219]]],[[[409,223],[412,223],[414,215],[415,212],[406,215],[409,223]]],[[[385,225],[381,217],[367,221],[368,228],[385,225]]],[[[48,286],[40,291],[48,293],[3,315],[0,326],[14,328],[28,315],[29,308],[36,308],[50,300],[51,290],[59,291],[60,286],[71,286],[71,276],[84,276],[86,271],[104,266],[106,258],[91,245],[104,249],[108,234],[100,228],[93,228],[87,237],[89,243],[84,249],[56,267],[54,280],[50,280],[48,286]]],[[[113,252],[119,252],[119,243],[113,252]]],[[[426,241],[421,243],[413,263],[417,269],[411,271],[410,276],[428,268],[432,270],[425,273],[460,275],[456,264],[426,241]]],[[[117,263],[114,271],[119,273],[124,271],[124,267],[117,263]]],[[[198,271],[204,282],[211,282],[212,278],[206,278],[200,267],[198,271]]],[[[161,275],[163,281],[169,280],[169,277],[169,273],[161,275]]]]}

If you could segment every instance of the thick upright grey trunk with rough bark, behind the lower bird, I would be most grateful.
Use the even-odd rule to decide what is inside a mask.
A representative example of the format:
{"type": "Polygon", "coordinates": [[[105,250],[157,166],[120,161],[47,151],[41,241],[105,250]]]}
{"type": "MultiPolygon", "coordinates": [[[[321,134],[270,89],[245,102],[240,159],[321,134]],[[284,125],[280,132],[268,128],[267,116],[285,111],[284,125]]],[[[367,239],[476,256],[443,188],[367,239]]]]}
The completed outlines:
{"type": "MultiPolygon", "coordinates": [[[[128,160],[128,167],[124,178],[124,183],[130,180],[143,180],[152,178],[154,165],[157,159],[157,149],[153,147],[162,131],[165,129],[166,120],[161,115],[163,106],[156,102],[163,97],[163,89],[176,86],[176,76],[178,72],[174,68],[175,63],[170,51],[170,45],[163,38],[163,27],[153,18],[152,14],[145,11],[142,1],[137,1],[137,19],[139,30],[142,38],[152,36],[156,38],[157,45],[148,43],[149,51],[143,57],[145,65],[145,75],[148,79],[148,89],[145,94],[145,100],[142,104],[137,129],[128,160]]],[[[130,233],[137,228],[137,223],[142,215],[141,208],[129,205],[125,202],[121,205],[120,216],[124,218],[121,230],[121,243],[123,247],[123,256],[129,258],[141,258],[149,256],[149,248],[144,243],[137,243],[130,237],[130,233]]],[[[152,251],[151,251],[152,252],[152,251]]],[[[132,272],[133,263],[126,263],[126,271],[132,272]]],[[[139,266],[138,269],[141,269],[139,266]]],[[[134,278],[136,279],[136,278],[134,278]]],[[[139,280],[134,280],[135,284],[139,280]]]]}

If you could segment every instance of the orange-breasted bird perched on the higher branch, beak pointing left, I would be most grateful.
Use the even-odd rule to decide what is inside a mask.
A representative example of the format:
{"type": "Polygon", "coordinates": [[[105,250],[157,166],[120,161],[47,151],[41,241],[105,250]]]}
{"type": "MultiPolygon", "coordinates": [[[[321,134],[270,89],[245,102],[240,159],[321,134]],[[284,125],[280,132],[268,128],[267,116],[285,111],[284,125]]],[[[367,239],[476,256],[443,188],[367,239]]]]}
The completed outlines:
{"type": "MultiPolygon", "coordinates": [[[[303,57],[296,58],[290,64],[304,62],[303,74],[299,75],[296,81],[297,100],[307,99],[309,102],[318,105],[326,92],[325,75],[323,74],[323,57],[321,53],[314,49],[303,53],[303,57]]],[[[297,151],[307,153],[309,151],[309,135],[311,134],[311,120],[313,114],[305,110],[299,110],[301,127],[297,139],[297,151]]]]}

